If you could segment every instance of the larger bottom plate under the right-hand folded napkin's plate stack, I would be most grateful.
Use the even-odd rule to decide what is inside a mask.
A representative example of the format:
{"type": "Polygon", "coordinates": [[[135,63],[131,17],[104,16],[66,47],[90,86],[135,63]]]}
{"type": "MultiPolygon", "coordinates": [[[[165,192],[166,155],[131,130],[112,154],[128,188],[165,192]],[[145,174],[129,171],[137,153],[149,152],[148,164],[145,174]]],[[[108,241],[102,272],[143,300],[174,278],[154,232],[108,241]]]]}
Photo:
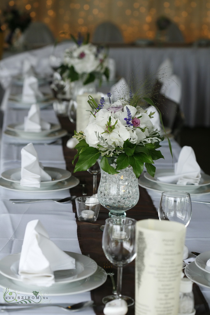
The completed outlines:
{"type": "MultiPolygon", "coordinates": [[[[144,174],[139,176],[138,179],[139,186],[144,187],[146,189],[153,190],[155,192],[166,192],[169,190],[180,190],[178,189],[177,186],[170,186],[170,185],[160,185],[159,183],[157,184],[154,181],[148,180],[147,178],[144,177],[144,174]]],[[[210,184],[206,186],[200,186],[196,188],[188,188],[188,186],[185,186],[182,191],[189,192],[191,196],[193,195],[204,195],[210,193],[210,184]]]]}

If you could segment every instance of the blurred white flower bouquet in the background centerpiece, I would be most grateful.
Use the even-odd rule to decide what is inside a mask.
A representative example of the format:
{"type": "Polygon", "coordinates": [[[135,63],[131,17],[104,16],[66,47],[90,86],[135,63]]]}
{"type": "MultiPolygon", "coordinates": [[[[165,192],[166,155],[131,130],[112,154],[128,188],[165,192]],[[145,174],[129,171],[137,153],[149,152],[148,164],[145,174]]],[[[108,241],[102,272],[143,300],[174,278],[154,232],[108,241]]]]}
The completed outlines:
{"type": "Polygon", "coordinates": [[[82,80],[83,84],[94,82],[97,78],[102,80],[103,75],[109,79],[109,68],[107,54],[104,49],[88,43],[87,38],[73,37],[75,45],[71,49],[66,49],[64,60],[59,68],[60,74],[64,79],[71,82],[82,80]]]}

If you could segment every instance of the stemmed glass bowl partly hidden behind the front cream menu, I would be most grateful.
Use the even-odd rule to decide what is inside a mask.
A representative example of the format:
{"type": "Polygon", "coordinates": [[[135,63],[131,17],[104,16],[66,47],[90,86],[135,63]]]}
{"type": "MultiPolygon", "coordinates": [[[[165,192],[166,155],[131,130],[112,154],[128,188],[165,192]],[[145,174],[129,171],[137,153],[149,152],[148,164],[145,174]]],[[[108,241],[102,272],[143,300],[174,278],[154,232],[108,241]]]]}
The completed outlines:
{"type": "Polygon", "coordinates": [[[192,214],[191,198],[188,192],[162,192],[158,208],[160,220],[183,223],[188,226],[192,214]]]}

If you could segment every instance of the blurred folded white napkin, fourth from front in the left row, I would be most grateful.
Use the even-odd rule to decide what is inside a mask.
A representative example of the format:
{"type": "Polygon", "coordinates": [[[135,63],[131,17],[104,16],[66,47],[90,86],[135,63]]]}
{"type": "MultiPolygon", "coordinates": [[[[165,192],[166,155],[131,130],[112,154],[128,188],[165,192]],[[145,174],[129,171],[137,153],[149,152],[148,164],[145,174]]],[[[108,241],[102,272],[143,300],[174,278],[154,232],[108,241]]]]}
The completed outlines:
{"type": "Polygon", "coordinates": [[[38,80],[34,76],[26,76],[23,81],[22,101],[35,103],[43,94],[39,91],[38,80]]]}

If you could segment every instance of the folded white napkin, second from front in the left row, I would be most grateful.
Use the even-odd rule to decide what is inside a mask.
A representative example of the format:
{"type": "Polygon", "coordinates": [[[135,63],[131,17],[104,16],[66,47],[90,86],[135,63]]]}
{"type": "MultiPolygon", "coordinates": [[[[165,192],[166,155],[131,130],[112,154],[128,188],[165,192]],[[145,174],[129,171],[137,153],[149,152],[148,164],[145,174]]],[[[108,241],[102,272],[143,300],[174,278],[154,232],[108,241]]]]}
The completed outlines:
{"type": "Polygon", "coordinates": [[[42,169],[34,146],[29,143],[21,149],[20,185],[39,188],[44,180],[51,180],[51,176],[42,169]]]}

